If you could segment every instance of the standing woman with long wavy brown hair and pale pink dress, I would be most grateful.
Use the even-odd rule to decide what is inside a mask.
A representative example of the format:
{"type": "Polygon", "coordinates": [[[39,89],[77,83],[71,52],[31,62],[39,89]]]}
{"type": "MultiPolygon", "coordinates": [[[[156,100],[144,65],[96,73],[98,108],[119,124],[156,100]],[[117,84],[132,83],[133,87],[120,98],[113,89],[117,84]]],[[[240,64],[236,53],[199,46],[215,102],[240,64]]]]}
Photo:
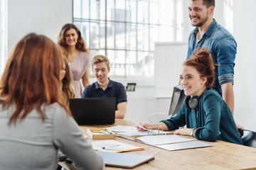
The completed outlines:
{"type": "Polygon", "coordinates": [[[74,78],[75,97],[82,95],[82,85],[90,85],[89,56],[90,52],[85,47],[80,30],[72,23],[67,23],[61,28],[58,35],[58,45],[63,48],[63,55],[70,64],[70,69],[74,78]]]}

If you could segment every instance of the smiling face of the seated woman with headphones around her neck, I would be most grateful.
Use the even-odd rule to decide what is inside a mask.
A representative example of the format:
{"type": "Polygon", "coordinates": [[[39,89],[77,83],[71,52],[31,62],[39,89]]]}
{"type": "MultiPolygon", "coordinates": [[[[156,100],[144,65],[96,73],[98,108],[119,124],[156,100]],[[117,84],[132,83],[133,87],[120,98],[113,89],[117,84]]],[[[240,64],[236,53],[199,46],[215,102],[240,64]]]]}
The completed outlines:
{"type": "Polygon", "coordinates": [[[195,67],[183,66],[180,79],[186,96],[201,96],[206,89],[206,77],[201,77],[195,67]]]}

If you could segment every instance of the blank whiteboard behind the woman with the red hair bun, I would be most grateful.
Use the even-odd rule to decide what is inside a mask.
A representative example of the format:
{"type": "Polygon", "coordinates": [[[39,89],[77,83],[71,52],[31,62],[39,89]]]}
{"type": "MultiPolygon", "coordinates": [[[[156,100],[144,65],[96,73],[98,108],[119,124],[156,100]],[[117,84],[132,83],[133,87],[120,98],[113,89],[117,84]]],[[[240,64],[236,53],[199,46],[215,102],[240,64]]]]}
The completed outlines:
{"type": "Polygon", "coordinates": [[[156,98],[171,98],[186,59],[187,42],[155,42],[154,87],[156,98]]]}

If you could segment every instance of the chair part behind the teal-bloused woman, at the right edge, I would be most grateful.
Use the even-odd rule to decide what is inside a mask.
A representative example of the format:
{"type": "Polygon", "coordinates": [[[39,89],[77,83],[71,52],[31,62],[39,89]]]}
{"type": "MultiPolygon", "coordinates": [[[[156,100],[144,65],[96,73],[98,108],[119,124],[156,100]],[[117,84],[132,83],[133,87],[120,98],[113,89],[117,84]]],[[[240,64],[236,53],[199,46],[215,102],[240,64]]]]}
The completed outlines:
{"type": "Polygon", "coordinates": [[[256,132],[241,129],[238,131],[241,135],[242,142],[244,143],[245,146],[256,148],[256,132]]]}

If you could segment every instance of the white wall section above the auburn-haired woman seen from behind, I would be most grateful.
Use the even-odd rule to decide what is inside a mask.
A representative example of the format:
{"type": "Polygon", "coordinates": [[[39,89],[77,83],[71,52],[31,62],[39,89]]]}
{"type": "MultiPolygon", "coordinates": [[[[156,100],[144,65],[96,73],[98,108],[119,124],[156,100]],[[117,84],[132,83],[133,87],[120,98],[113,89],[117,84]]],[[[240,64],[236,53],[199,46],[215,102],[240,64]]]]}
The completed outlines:
{"type": "Polygon", "coordinates": [[[8,0],[8,53],[28,33],[48,36],[57,42],[65,23],[73,21],[72,0],[8,0]]]}

